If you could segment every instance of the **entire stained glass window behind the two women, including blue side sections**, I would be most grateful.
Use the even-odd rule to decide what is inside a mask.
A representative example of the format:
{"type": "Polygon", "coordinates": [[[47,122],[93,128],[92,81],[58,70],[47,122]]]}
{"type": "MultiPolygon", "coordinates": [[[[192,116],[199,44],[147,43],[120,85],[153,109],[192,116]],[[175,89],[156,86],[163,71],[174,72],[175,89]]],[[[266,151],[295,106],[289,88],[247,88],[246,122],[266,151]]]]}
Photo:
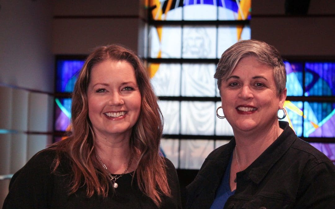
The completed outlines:
{"type": "MultiPolygon", "coordinates": [[[[251,1],[149,0],[147,6],[145,59],[164,117],[161,152],[176,168],[199,169],[205,157],[233,135],[227,120],[216,117],[221,101],[213,75],[225,49],[251,38],[251,1]]],[[[83,59],[61,58],[56,65],[60,95],[55,99],[54,127],[62,132],[70,127],[70,93],[83,59]]],[[[334,62],[285,62],[288,97],[283,119],[333,161],[334,66],[334,62]]]]}

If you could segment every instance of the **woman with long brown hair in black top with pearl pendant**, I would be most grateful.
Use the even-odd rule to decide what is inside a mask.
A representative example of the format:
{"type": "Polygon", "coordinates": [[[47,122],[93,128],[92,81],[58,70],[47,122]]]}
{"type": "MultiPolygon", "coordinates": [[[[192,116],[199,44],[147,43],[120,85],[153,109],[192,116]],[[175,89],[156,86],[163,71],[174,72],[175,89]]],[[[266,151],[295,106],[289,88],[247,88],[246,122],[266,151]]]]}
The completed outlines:
{"type": "Polygon", "coordinates": [[[180,208],[148,72],[121,45],[96,48],[76,81],[71,135],[14,174],[3,208],[180,208]]]}

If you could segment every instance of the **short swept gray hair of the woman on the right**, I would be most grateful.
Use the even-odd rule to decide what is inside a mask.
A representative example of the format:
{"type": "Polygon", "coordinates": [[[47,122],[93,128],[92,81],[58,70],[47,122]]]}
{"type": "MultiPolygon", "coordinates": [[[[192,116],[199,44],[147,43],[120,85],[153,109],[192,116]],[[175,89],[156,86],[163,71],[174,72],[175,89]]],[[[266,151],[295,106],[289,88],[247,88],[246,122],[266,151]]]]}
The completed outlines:
{"type": "Polygon", "coordinates": [[[219,90],[222,80],[227,79],[231,75],[237,63],[242,58],[250,55],[255,56],[260,63],[273,68],[274,80],[279,95],[286,87],[285,64],[279,51],[274,46],[254,39],[238,41],[224,51],[214,74],[219,90]]]}

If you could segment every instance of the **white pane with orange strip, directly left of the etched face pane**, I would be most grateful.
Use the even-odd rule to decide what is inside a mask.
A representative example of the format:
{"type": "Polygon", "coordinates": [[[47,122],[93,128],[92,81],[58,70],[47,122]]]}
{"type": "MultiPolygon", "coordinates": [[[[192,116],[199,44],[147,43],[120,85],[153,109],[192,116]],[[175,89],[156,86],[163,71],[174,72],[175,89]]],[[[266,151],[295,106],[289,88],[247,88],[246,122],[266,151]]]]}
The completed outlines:
{"type": "Polygon", "coordinates": [[[150,58],[181,58],[182,29],[180,26],[150,27],[148,36],[150,58]]]}

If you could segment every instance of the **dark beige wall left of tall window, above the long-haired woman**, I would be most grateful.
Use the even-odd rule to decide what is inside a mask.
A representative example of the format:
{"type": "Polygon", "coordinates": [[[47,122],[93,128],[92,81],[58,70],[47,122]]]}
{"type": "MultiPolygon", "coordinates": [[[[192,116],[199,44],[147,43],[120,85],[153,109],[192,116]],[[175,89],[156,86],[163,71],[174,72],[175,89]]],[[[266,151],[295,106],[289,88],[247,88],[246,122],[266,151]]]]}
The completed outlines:
{"type": "Polygon", "coordinates": [[[120,43],[143,54],[141,1],[57,1],[54,8],[54,54],[89,54],[98,45],[120,43]],[[138,50],[140,49],[140,50],[138,50]]]}

